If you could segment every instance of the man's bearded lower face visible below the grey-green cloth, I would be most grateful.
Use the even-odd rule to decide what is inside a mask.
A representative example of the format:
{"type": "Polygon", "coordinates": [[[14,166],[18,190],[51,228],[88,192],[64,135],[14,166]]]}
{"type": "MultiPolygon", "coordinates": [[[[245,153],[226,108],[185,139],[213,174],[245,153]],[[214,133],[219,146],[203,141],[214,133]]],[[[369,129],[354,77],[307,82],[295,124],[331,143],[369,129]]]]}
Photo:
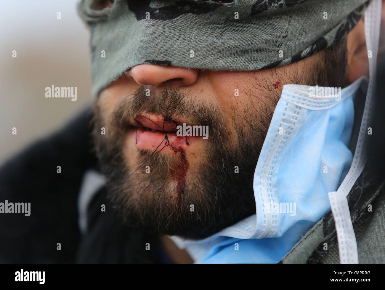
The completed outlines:
{"type": "Polygon", "coordinates": [[[127,223],[204,238],[253,215],[254,169],[283,85],[328,85],[324,60],[243,72],[144,64],[110,84],[94,139],[127,223]],[[183,123],[207,125],[208,139],[177,136],[183,123]]]}

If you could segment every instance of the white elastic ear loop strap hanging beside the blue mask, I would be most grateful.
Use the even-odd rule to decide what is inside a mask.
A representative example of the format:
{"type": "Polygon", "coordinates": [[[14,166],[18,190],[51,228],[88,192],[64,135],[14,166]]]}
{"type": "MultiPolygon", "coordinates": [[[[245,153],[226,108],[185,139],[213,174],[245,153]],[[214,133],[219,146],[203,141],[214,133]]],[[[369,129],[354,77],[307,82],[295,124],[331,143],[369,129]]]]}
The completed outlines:
{"type": "Polygon", "coordinates": [[[346,196],[353,187],[366,163],[367,129],[370,124],[376,89],[377,53],[381,24],[381,0],[372,0],[365,12],[365,39],[369,57],[369,84],[365,100],[360,133],[353,157],[352,166],[337,191],[328,193],[331,211],[337,231],[340,263],[358,263],[357,241],[346,196]]]}

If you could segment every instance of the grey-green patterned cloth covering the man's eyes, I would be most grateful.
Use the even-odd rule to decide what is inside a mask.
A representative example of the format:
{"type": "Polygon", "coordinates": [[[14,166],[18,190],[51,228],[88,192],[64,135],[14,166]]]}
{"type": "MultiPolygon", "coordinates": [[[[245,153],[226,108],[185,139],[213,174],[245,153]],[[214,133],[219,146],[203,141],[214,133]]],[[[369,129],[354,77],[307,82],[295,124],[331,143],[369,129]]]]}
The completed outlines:
{"type": "Polygon", "coordinates": [[[258,70],[297,62],[345,37],[369,3],[81,0],[79,15],[91,31],[92,93],[144,63],[258,70]]]}

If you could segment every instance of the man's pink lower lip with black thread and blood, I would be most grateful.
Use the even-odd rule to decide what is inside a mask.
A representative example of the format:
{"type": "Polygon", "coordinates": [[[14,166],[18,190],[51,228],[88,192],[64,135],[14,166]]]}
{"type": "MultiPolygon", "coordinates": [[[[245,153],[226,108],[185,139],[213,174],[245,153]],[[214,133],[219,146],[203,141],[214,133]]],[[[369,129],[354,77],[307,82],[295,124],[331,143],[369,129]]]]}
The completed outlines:
{"type": "Polygon", "coordinates": [[[195,142],[198,136],[176,136],[176,133],[168,133],[167,140],[165,139],[165,133],[161,131],[148,131],[142,128],[133,129],[129,133],[130,139],[136,144],[136,147],[142,150],[185,150],[193,142],[195,142]],[[167,145],[166,145],[167,144],[167,145]]]}

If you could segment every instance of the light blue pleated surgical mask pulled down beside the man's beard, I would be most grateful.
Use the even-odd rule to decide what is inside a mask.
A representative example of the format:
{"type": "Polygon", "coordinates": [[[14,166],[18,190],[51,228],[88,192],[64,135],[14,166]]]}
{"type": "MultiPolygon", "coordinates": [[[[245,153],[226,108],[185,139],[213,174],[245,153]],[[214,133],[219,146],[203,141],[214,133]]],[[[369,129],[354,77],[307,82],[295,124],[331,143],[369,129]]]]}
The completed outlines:
{"type": "Polygon", "coordinates": [[[353,100],[344,89],[284,85],[254,173],[256,214],[200,241],[172,237],[197,263],[277,263],[330,209],[352,164],[353,100]]]}

